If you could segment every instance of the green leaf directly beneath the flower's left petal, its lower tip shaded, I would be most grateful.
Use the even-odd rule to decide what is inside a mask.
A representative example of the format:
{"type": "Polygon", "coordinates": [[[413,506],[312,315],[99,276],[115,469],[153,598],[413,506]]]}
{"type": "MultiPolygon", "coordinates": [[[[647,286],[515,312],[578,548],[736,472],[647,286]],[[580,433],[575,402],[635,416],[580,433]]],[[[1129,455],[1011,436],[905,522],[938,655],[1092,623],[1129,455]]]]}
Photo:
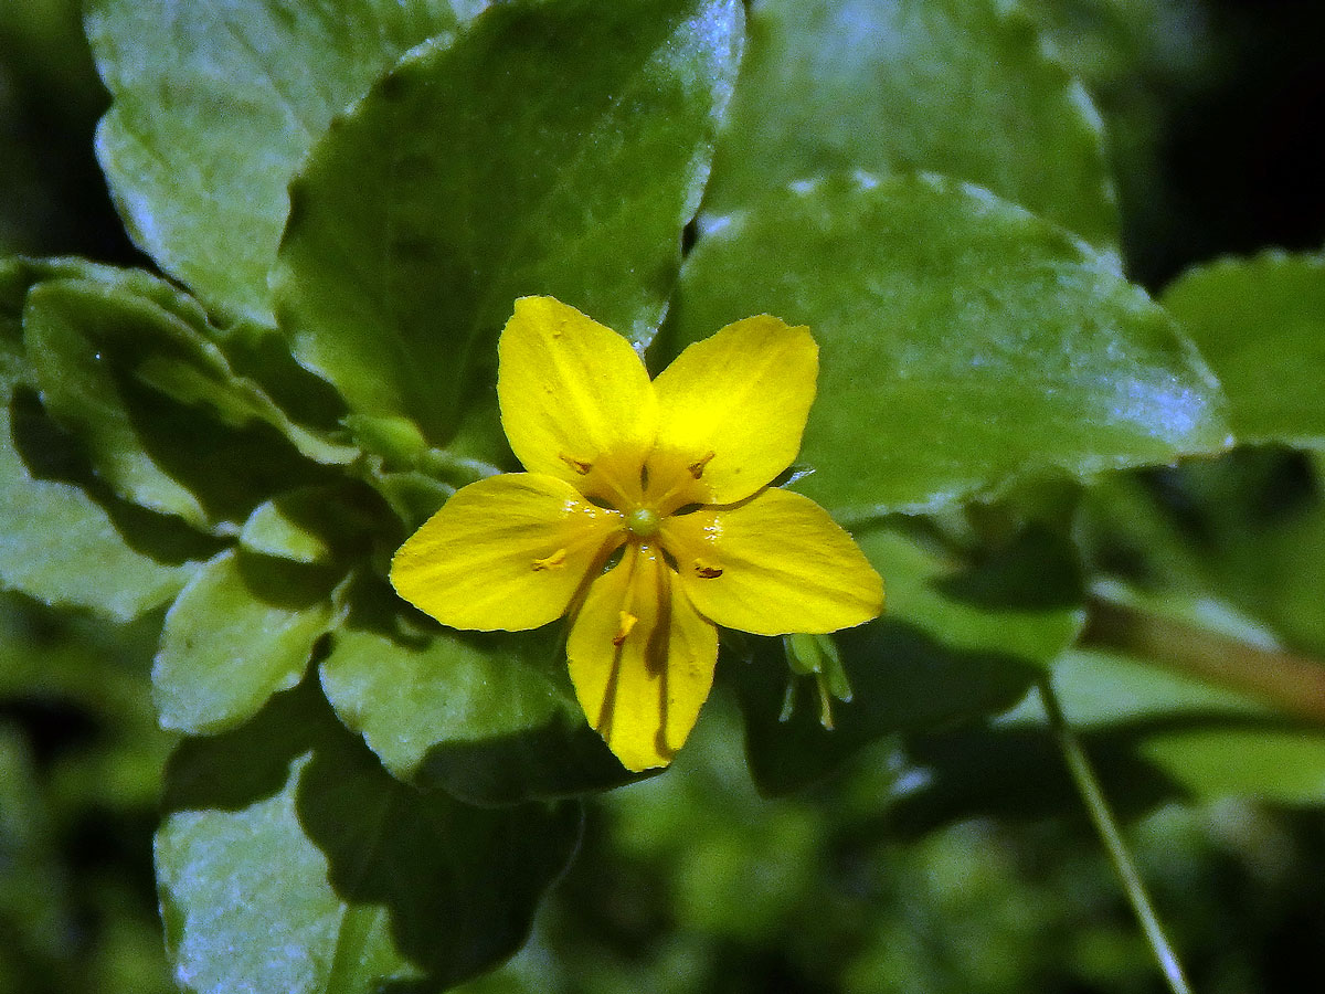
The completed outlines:
{"type": "Polygon", "coordinates": [[[341,721],[392,774],[482,804],[629,779],[586,722],[554,630],[439,630],[400,616],[394,602],[376,587],[356,591],[322,663],[341,721]]]}

